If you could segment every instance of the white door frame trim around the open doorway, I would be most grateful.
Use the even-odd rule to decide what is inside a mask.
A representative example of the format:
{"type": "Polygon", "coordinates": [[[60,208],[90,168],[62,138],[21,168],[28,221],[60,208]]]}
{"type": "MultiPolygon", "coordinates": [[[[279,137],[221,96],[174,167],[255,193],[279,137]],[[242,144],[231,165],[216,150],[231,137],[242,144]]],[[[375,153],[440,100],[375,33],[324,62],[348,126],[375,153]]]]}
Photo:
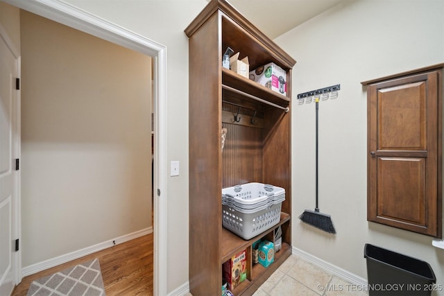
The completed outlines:
{"type": "MultiPolygon", "coordinates": [[[[139,53],[153,57],[153,105],[155,114],[154,130],[154,157],[153,157],[153,193],[154,193],[154,295],[167,294],[167,204],[165,172],[167,168],[166,155],[166,48],[162,44],[153,42],[145,37],[127,31],[108,21],[89,15],[67,3],[58,0],[6,0],[12,6],[22,8],[36,15],[46,17],[61,24],[76,28],[95,37],[107,40],[114,44],[132,49],[139,53]],[[162,198],[160,198],[162,193],[162,198]]],[[[20,218],[20,217],[19,217],[20,218]]],[[[22,266],[18,267],[21,270],[22,266]]],[[[18,281],[21,280],[21,273],[18,281]]]]}

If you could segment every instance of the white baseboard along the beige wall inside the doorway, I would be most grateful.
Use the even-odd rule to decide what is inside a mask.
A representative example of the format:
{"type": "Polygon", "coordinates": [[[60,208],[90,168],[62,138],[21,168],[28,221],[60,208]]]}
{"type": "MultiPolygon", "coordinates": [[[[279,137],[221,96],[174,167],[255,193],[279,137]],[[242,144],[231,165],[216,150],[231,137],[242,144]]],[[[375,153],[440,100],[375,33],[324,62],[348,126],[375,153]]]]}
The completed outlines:
{"type": "Polygon", "coordinates": [[[33,265],[26,266],[22,268],[22,275],[26,277],[28,275],[33,275],[42,270],[46,270],[48,268],[60,265],[62,263],[67,263],[71,260],[78,259],[80,257],[92,254],[94,252],[98,252],[101,250],[105,250],[108,247],[112,247],[113,245],[119,245],[121,243],[125,243],[126,241],[130,241],[132,239],[138,238],[140,236],[144,236],[146,234],[153,233],[153,227],[148,227],[145,229],[141,229],[137,232],[133,232],[130,234],[126,234],[124,236],[119,236],[118,238],[110,239],[109,241],[104,241],[103,243],[98,243],[96,245],[92,245],[90,247],[85,247],[81,250],[77,250],[65,255],[57,256],[53,259],[48,259],[39,263],[35,263],[33,265]]]}

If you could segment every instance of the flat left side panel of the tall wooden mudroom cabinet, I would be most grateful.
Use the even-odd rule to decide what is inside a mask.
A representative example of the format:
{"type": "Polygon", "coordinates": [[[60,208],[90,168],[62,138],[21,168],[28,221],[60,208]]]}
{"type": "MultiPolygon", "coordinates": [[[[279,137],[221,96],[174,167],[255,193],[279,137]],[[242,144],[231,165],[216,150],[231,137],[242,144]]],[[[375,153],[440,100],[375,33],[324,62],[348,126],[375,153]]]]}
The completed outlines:
{"type": "Polygon", "coordinates": [[[193,53],[189,55],[189,286],[193,295],[220,294],[222,284],[219,22],[216,12],[189,38],[193,53]]]}

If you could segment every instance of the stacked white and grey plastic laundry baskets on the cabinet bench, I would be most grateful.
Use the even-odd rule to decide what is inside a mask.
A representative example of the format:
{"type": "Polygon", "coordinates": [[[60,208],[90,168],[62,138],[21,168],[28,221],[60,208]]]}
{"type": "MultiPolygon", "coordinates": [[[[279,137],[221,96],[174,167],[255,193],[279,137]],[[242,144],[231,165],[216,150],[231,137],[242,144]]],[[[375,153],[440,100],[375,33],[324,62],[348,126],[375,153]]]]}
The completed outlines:
{"type": "Polygon", "coordinates": [[[247,183],[222,189],[222,225],[244,239],[253,238],[280,221],[285,189],[247,183]]]}

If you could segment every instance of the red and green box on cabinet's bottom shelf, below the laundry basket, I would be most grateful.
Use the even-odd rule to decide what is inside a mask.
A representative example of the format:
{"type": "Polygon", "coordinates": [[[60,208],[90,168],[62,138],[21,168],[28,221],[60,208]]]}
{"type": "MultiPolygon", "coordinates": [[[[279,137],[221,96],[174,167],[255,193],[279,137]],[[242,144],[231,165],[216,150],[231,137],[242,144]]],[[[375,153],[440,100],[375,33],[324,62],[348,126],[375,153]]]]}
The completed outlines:
{"type": "Polygon", "coordinates": [[[222,275],[230,290],[241,284],[247,278],[247,251],[244,250],[223,263],[222,275]]]}

